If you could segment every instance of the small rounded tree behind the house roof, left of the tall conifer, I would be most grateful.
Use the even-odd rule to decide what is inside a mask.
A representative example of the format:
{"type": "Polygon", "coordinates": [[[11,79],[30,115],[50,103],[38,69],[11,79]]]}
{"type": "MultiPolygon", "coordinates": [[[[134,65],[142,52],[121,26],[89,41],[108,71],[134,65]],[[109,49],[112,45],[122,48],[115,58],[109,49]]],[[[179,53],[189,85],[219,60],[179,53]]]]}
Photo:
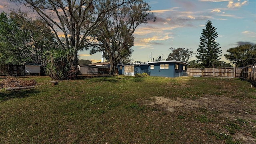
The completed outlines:
{"type": "Polygon", "coordinates": [[[188,62],[188,60],[192,57],[193,52],[188,48],[170,48],[172,52],[169,54],[166,60],[177,60],[182,62],[188,62]]]}

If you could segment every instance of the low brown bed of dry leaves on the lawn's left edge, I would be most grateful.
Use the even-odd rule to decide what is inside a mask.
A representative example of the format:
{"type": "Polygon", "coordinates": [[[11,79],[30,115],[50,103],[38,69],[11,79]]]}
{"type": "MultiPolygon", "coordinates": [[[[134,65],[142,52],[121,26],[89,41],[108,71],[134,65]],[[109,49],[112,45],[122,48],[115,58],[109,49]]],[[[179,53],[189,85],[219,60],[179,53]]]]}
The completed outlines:
{"type": "Polygon", "coordinates": [[[0,81],[0,88],[14,88],[14,87],[24,87],[24,86],[34,86],[34,85],[36,85],[36,80],[6,78],[0,81]]]}

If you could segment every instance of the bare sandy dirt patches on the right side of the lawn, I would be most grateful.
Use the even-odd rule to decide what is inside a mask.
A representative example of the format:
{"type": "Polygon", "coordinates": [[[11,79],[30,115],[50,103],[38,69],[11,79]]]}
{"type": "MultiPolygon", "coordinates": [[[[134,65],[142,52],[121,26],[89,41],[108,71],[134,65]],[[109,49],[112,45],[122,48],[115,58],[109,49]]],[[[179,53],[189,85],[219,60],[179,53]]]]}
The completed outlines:
{"type": "MultiPolygon", "coordinates": [[[[227,96],[204,96],[196,100],[188,100],[185,98],[164,98],[154,96],[151,100],[145,102],[147,105],[160,106],[169,112],[176,112],[180,109],[186,108],[192,110],[196,108],[204,108],[209,111],[220,112],[219,116],[222,118],[228,118],[230,120],[243,119],[247,121],[256,120],[256,110],[250,105],[250,102],[246,100],[239,100],[237,98],[227,96]]],[[[256,128],[255,123],[250,123],[250,126],[256,128]]],[[[244,140],[247,142],[256,142],[255,138],[242,133],[234,134],[234,138],[238,140],[244,140]]]]}

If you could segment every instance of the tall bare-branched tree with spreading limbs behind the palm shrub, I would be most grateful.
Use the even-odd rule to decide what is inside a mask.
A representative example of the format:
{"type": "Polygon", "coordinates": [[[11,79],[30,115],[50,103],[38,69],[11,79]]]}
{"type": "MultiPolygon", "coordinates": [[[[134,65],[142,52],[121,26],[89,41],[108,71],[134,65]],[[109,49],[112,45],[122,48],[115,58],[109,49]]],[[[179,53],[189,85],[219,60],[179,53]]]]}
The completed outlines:
{"type": "MultiPolygon", "coordinates": [[[[36,12],[51,28],[60,48],[69,51],[70,70],[76,70],[78,50],[83,50],[91,30],[97,28],[114,8],[132,0],[11,0],[36,12]],[[102,6],[102,7],[100,7],[102,6]],[[63,37],[63,38],[62,38],[63,37]],[[71,51],[71,52],[70,52],[71,51]]],[[[62,51],[59,50],[59,51],[62,51]]],[[[65,69],[66,71],[70,71],[65,69]]],[[[66,73],[66,72],[64,72],[66,73]]]]}

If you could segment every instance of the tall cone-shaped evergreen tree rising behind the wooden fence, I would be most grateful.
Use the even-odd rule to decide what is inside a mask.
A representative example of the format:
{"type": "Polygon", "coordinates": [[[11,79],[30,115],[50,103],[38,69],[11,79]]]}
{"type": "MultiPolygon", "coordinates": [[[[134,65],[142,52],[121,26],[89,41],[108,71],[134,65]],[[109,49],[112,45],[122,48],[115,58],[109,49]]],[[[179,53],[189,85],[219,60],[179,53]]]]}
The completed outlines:
{"type": "Polygon", "coordinates": [[[196,58],[201,62],[203,67],[212,67],[212,64],[218,62],[220,56],[222,56],[220,47],[218,47],[220,44],[215,41],[215,38],[218,37],[216,29],[212,26],[212,22],[208,20],[205,29],[201,33],[201,42],[199,48],[197,48],[196,58]]]}

